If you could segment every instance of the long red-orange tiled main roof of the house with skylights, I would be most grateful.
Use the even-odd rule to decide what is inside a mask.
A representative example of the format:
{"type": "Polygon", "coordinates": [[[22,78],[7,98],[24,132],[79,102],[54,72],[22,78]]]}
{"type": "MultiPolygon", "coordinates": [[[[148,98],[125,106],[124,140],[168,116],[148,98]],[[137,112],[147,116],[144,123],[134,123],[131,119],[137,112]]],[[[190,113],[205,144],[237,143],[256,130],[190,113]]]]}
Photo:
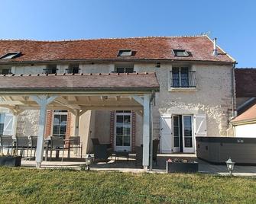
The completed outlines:
{"type": "Polygon", "coordinates": [[[213,43],[207,36],[66,41],[0,40],[0,56],[10,52],[21,52],[21,56],[15,59],[0,59],[0,63],[144,59],[234,62],[222,49],[219,49],[219,56],[212,56],[212,51],[213,43]],[[134,56],[118,56],[119,49],[131,49],[134,56]],[[186,49],[191,55],[174,56],[172,49],[186,49]]]}

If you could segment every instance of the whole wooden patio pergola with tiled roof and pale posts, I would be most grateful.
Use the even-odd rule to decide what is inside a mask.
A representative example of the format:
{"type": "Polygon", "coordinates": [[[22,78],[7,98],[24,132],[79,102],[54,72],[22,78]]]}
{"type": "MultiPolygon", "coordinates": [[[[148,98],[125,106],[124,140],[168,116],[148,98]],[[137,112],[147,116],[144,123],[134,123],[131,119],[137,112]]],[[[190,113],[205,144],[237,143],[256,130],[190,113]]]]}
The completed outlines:
{"type": "Polygon", "coordinates": [[[70,110],[79,117],[87,110],[134,110],[144,118],[144,169],[150,164],[151,100],[159,84],[155,73],[79,75],[1,75],[0,107],[17,116],[23,110],[40,110],[36,166],[41,167],[47,110],[70,110]]]}

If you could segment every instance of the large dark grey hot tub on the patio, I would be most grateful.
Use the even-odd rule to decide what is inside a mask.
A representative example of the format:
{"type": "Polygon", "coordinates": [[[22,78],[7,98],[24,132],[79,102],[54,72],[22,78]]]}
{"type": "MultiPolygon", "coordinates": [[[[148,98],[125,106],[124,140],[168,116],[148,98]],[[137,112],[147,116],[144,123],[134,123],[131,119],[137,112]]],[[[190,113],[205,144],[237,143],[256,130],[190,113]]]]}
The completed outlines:
{"type": "Polygon", "coordinates": [[[256,138],[196,137],[196,156],[215,164],[229,157],[237,164],[256,164],[256,138]]]}

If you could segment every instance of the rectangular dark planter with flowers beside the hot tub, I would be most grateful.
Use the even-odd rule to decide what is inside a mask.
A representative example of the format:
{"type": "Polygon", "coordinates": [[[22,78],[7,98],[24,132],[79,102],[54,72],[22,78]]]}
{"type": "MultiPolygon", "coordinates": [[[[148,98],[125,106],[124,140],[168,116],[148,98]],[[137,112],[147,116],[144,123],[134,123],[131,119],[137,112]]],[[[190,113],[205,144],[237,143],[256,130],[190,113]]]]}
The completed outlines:
{"type": "Polygon", "coordinates": [[[198,163],[187,159],[168,159],[167,173],[196,173],[198,172],[198,163]]]}

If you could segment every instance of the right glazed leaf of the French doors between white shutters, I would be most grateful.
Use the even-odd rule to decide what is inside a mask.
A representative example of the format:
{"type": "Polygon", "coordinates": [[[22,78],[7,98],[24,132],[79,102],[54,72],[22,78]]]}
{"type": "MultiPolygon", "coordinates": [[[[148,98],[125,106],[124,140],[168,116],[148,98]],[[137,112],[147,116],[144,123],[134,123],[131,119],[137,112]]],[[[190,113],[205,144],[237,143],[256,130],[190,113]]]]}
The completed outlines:
{"type": "Polygon", "coordinates": [[[183,152],[194,153],[192,116],[183,115],[183,152]]]}

